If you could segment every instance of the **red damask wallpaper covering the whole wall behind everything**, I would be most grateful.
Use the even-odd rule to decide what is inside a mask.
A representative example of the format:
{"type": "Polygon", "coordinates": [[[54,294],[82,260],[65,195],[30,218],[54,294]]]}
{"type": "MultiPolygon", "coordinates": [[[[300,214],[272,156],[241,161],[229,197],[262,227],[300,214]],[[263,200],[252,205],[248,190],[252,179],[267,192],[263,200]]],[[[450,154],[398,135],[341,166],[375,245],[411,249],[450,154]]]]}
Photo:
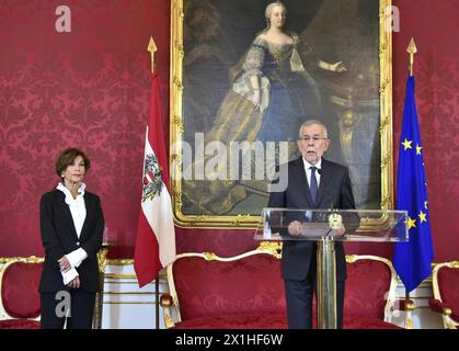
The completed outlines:
{"type": "MultiPolygon", "coordinates": [[[[394,150],[408,72],[406,46],[418,49],[415,77],[428,181],[435,261],[458,259],[459,56],[454,0],[394,0],[394,150]]],[[[43,254],[38,202],[58,181],[57,154],[77,146],[93,168],[88,190],[103,202],[112,258],[131,258],[140,201],[150,57],[159,52],[164,117],[169,111],[170,1],[67,0],[71,32],[55,23],[61,1],[0,1],[0,257],[43,254]]],[[[167,125],[167,123],[165,123],[167,125]]],[[[168,131],[164,134],[169,136],[168,131]]],[[[177,251],[239,253],[251,230],[177,229],[177,251]]],[[[390,246],[355,244],[347,252],[390,257],[390,246]]]]}

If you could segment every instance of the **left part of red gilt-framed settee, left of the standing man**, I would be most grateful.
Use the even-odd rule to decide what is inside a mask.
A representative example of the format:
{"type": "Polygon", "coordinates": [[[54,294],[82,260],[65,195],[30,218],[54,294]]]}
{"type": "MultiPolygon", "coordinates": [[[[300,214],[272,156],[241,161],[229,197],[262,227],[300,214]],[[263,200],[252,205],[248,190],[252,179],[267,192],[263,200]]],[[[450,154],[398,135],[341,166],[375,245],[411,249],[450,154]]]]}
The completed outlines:
{"type": "Polygon", "coordinates": [[[287,328],[280,245],[231,258],[182,253],[168,267],[161,296],[167,328],[287,328]]]}

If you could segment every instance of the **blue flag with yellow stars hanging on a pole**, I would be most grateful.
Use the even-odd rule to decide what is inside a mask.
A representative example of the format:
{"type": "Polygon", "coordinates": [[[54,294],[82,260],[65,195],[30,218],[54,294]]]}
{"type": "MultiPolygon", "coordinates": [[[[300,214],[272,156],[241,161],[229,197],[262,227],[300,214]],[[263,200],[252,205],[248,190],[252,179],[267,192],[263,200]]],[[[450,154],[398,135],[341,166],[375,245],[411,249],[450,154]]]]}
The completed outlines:
{"type": "Polygon", "coordinates": [[[434,248],[427,203],[423,147],[414,99],[414,77],[406,82],[402,134],[400,137],[397,210],[408,211],[408,242],[397,242],[393,265],[409,292],[432,273],[434,248]]]}

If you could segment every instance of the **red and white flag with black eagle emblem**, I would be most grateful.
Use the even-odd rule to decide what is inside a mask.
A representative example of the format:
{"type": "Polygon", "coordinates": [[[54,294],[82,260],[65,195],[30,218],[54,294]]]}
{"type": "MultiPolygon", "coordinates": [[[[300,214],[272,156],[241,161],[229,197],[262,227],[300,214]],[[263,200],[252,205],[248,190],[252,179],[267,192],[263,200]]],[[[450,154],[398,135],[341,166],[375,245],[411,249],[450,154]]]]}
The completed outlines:
{"type": "Polygon", "coordinates": [[[175,229],[169,193],[169,165],[162,128],[159,78],[151,79],[150,112],[145,139],[142,199],[134,253],[139,286],[158,278],[175,259],[175,229]]]}

